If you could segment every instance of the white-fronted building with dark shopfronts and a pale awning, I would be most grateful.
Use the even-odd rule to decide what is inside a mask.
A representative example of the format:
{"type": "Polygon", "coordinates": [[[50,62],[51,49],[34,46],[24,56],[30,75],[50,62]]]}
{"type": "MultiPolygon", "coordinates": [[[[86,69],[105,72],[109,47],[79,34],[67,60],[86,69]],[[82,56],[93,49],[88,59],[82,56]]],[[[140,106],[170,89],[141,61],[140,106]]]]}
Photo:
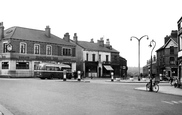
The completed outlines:
{"type": "Polygon", "coordinates": [[[83,71],[85,76],[110,77],[111,71],[114,72],[115,77],[120,77],[123,73],[127,74],[125,72],[127,71],[126,62],[123,63],[124,58],[120,58],[119,52],[112,48],[109,39],[106,44],[104,44],[103,38],[97,43],[94,43],[93,39],[90,42],[78,41],[75,33],[73,43],[77,45],[77,70],[83,71]]]}

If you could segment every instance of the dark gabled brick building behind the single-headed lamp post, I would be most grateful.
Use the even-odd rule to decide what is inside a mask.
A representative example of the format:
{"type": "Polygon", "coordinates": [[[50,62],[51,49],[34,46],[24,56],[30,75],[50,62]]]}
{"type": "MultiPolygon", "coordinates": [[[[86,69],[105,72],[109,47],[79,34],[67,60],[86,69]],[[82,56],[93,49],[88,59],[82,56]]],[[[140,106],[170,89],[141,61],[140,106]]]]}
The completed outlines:
{"type": "Polygon", "coordinates": [[[178,75],[178,44],[177,30],[172,30],[171,35],[164,38],[164,45],[157,52],[157,73],[163,76],[178,75]]]}

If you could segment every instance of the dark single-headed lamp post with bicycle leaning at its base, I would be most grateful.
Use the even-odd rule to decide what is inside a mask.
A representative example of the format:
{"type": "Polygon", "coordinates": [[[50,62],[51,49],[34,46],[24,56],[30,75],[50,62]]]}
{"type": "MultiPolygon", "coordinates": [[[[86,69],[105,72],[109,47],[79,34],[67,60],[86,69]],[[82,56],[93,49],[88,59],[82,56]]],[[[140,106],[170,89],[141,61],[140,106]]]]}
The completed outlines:
{"type": "Polygon", "coordinates": [[[150,91],[153,91],[153,88],[152,88],[152,79],[153,79],[153,76],[152,76],[152,52],[153,52],[153,50],[154,50],[154,48],[156,46],[156,42],[154,40],[152,40],[150,42],[149,47],[152,47],[152,46],[153,46],[153,48],[152,48],[152,51],[151,51],[151,63],[150,63],[150,91]]]}

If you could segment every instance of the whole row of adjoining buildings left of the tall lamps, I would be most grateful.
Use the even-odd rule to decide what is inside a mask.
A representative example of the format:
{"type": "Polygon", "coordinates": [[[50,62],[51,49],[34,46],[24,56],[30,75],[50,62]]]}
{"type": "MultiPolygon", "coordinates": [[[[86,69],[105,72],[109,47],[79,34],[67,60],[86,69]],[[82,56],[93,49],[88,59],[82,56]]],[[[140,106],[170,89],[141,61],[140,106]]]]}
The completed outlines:
{"type": "Polygon", "coordinates": [[[110,71],[117,77],[127,74],[127,60],[112,48],[109,39],[101,38],[96,43],[79,41],[77,34],[70,39],[45,30],[11,27],[4,30],[0,23],[0,76],[34,77],[38,64],[42,62],[63,63],[72,72],[82,71],[85,76],[108,77],[110,71]]]}

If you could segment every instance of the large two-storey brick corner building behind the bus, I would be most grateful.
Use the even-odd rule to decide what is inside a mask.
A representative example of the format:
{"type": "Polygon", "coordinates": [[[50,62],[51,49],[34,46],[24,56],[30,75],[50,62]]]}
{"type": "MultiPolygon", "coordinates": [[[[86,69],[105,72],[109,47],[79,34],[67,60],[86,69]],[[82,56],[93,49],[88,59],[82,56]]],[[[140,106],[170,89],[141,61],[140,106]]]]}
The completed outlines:
{"type": "Polygon", "coordinates": [[[5,77],[33,77],[41,62],[69,64],[76,70],[76,46],[69,42],[69,34],[61,39],[51,34],[51,28],[36,30],[11,27],[4,30],[0,23],[0,75],[5,77]]]}

